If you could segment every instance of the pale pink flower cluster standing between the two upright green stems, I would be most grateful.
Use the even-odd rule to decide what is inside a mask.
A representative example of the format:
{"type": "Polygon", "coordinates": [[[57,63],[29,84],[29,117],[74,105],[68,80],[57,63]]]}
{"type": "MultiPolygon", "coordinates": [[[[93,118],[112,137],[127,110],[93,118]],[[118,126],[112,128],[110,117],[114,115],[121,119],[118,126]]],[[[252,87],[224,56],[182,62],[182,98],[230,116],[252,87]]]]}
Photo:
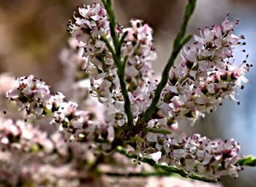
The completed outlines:
{"type": "Polygon", "coordinates": [[[152,28],[144,24],[142,20],[131,20],[131,28],[124,28],[127,32],[121,55],[128,56],[126,76],[129,90],[143,89],[143,85],[151,79],[154,73],[151,69],[151,61],[157,59],[157,53],[153,46],[152,28]]]}

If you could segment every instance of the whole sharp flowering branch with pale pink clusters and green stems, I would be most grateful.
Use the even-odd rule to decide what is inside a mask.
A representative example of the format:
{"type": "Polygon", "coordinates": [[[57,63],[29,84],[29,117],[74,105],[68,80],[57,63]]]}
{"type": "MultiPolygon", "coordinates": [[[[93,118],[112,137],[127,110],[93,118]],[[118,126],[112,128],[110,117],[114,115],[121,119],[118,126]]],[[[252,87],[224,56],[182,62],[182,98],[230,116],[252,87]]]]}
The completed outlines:
{"type": "Polygon", "coordinates": [[[89,74],[90,93],[105,105],[104,117],[97,121],[88,108],[85,107],[86,111],[78,109],[78,104],[64,101],[60,92],[51,95],[48,85],[41,79],[34,76],[16,78],[7,98],[16,103],[20,111],[26,111],[27,117],[50,116],[50,124],[57,124],[66,136],[60,143],[56,136],[46,138],[46,132],[37,135],[39,131],[30,125],[20,122],[10,125],[8,122],[0,126],[0,147],[1,144],[4,148],[15,147],[20,141],[20,148],[36,152],[48,148],[47,155],[51,156],[56,152],[61,154],[63,146],[64,151],[69,148],[65,140],[70,140],[68,145],[78,146],[78,150],[83,148],[76,152],[78,155],[75,151],[71,156],[69,152],[64,154],[64,159],[78,156],[70,169],[81,171],[82,162],[89,178],[94,179],[99,175],[178,174],[184,178],[217,182],[223,175],[237,178],[243,169],[241,166],[255,166],[255,157],[243,158],[238,154],[240,146],[236,140],[209,140],[198,134],[174,135],[178,124],[184,121],[192,124],[206,112],[214,111],[224,98],[236,100],[236,91],[244,89],[242,84],[248,82],[244,74],[252,67],[246,59],[236,65],[233,51],[245,45],[240,41],[244,36],[233,35],[238,20],[232,23],[227,18],[222,25],[200,29],[201,36],[194,36],[195,42],[184,47],[181,62],[173,65],[181,48],[192,37],[185,33],[195,2],[189,0],[187,4],[161,81],[152,77],[151,62],[156,60],[157,53],[153,30],[148,24],[131,20],[129,28],[121,27],[116,23],[110,0],[102,0],[105,9],[100,4],[78,7],[75,22],[68,24],[75,50],[63,58],[71,63],[77,61],[75,67],[89,74]],[[27,130],[32,134],[28,136],[27,130]],[[132,152],[127,152],[128,146],[133,148],[132,152]],[[92,162],[86,164],[87,158],[80,158],[84,151],[93,154],[88,155],[94,158],[92,162]],[[100,172],[100,164],[116,164],[113,157],[120,156],[116,153],[147,163],[154,171],[100,172]],[[159,159],[150,158],[155,153],[159,159]]]}

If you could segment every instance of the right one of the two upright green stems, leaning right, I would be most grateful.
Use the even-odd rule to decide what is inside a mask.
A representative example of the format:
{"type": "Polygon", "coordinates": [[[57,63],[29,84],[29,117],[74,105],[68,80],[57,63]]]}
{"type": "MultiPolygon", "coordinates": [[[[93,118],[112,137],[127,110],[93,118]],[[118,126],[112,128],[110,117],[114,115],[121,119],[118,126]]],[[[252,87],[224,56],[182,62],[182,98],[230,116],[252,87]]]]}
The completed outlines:
{"type": "Polygon", "coordinates": [[[187,30],[187,23],[189,22],[189,18],[194,12],[195,4],[196,4],[196,0],[189,0],[189,3],[187,4],[186,11],[184,14],[184,21],[181,25],[181,30],[178,32],[176,39],[173,42],[173,51],[171,52],[170,58],[167,61],[167,65],[165,66],[164,71],[162,72],[162,79],[157,85],[156,91],[154,92],[154,98],[151,102],[151,105],[148,107],[145,114],[143,115],[143,120],[146,122],[151,118],[151,116],[154,114],[154,111],[157,108],[157,103],[159,101],[162,89],[165,87],[168,81],[168,74],[169,74],[170,68],[173,66],[178,53],[180,52],[184,44],[186,44],[187,41],[189,41],[189,39],[191,39],[192,37],[192,36],[187,36],[184,38],[187,30]]]}

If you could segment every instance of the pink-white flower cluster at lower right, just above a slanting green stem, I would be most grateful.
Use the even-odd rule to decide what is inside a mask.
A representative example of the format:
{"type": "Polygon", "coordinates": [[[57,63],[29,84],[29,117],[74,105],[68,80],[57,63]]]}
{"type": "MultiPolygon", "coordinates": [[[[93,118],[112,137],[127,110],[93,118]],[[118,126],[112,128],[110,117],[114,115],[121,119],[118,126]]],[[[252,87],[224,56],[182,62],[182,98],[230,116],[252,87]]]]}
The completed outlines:
{"type": "MultiPolygon", "coordinates": [[[[169,138],[166,135],[149,134],[148,143],[156,143],[157,151],[162,152],[159,162],[176,166],[187,172],[219,178],[222,175],[238,177],[241,167],[236,165],[241,156],[239,144],[233,140],[214,140],[198,134],[187,137],[169,138]]],[[[146,146],[146,151],[151,147],[146,146]]]]}

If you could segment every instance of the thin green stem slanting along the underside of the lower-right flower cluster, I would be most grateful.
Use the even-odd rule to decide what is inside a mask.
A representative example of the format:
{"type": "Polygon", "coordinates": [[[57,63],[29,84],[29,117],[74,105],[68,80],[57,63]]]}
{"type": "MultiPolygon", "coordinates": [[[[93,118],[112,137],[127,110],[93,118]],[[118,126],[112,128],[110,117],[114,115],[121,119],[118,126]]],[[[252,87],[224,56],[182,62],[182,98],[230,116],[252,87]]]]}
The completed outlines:
{"type": "Polygon", "coordinates": [[[127,158],[130,158],[130,159],[138,159],[140,162],[143,162],[143,163],[147,163],[149,165],[151,165],[152,167],[154,167],[155,169],[159,170],[164,170],[165,172],[169,172],[170,174],[178,174],[178,175],[181,175],[181,177],[184,177],[184,178],[192,178],[192,179],[195,179],[195,180],[202,180],[202,181],[205,181],[205,182],[209,182],[209,183],[217,183],[218,180],[215,179],[215,178],[206,178],[204,176],[201,176],[201,175],[195,175],[195,174],[189,174],[188,172],[186,172],[185,170],[181,170],[181,169],[178,169],[176,167],[170,167],[170,166],[165,166],[165,165],[162,165],[162,164],[157,164],[157,162],[154,161],[154,159],[150,159],[146,156],[139,156],[138,157],[138,154],[127,154],[127,151],[125,151],[124,148],[118,146],[116,149],[115,149],[116,152],[120,153],[120,154],[123,154],[124,156],[127,156],[127,158]]]}

